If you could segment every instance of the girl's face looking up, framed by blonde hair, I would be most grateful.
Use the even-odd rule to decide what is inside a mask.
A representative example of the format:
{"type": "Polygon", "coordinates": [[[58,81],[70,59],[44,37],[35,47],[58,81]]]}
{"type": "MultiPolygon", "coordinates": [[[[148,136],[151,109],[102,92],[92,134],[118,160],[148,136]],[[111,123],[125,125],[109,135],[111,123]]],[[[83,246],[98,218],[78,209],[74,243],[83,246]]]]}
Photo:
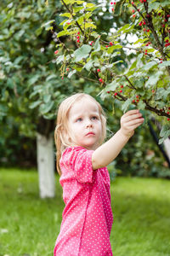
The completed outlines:
{"type": "Polygon", "coordinates": [[[88,98],[75,102],[69,111],[68,125],[72,143],[91,150],[99,147],[102,125],[95,102],[88,98]]]}

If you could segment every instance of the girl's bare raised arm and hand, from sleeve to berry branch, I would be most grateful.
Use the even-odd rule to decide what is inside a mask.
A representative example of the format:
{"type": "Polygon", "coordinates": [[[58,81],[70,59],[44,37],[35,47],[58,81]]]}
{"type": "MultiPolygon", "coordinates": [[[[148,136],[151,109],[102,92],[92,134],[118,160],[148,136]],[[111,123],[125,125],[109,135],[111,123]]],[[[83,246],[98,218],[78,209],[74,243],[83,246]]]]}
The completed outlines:
{"type": "Polygon", "coordinates": [[[122,115],[121,128],[106,143],[99,146],[92,155],[93,169],[108,166],[112,160],[121,152],[130,137],[133,136],[134,129],[144,122],[139,109],[129,110],[122,115]]]}

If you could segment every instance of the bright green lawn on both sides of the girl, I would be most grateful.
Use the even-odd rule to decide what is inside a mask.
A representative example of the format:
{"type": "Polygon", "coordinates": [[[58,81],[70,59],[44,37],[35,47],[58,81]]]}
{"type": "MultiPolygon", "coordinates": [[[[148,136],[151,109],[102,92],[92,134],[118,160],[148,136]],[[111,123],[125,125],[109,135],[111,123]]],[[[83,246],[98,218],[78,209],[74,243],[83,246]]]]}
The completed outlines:
{"type": "MultiPolygon", "coordinates": [[[[170,256],[170,181],[116,177],[111,200],[114,256],[170,256]]],[[[41,200],[37,172],[1,168],[0,256],[53,256],[63,207],[58,176],[41,200]]]]}

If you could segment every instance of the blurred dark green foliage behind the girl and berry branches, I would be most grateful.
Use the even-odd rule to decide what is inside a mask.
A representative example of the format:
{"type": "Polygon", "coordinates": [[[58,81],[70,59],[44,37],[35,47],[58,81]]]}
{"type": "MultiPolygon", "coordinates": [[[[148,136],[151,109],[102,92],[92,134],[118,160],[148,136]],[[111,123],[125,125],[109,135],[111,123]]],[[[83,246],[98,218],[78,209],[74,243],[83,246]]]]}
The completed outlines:
{"type": "MultiPolygon", "coordinates": [[[[131,14],[120,13],[122,2],[116,5],[114,18],[108,11],[109,1],[99,2],[103,7],[93,16],[99,32],[109,32],[111,27],[117,29],[128,22],[131,14]]],[[[77,75],[72,75],[71,79],[60,77],[54,55],[58,42],[54,33],[44,27],[48,20],[54,19],[55,31],[59,32],[62,11],[61,3],[54,0],[49,0],[48,4],[43,0],[3,0],[1,3],[0,166],[37,166],[37,132],[47,136],[54,132],[59,103],[75,92],[84,91],[102,104],[107,115],[107,138],[119,129],[122,111],[118,102],[113,102],[109,95],[102,101],[97,96],[100,88],[91,81],[77,75]],[[113,104],[115,113],[112,113],[113,104]]],[[[121,58],[125,60],[123,52],[121,58]]],[[[133,53],[126,58],[130,61],[133,53]]],[[[150,134],[147,125],[150,114],[146,111],[144,118],[144,125],[109,166],[111,177],[170,177],[167,161],[150,134]]],[[[158,133],[157,126],[153,127],[158,133]]]]}

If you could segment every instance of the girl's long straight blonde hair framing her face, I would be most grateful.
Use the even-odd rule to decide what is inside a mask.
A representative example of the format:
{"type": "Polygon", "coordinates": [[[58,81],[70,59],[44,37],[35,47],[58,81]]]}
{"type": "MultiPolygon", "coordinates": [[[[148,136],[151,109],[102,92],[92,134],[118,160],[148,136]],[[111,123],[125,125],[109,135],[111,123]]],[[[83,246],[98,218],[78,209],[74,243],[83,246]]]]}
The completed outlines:
{"type": "Polygon", "coordinates": [[[99,144],[103,143],[105,140],[105,134],[106,134],[106,117],[105,112],[99,102],[97,102],[93,96],[89,96],[85,93],[77,93],[72,96],[67,97],[63,102],[59,105],[59,110],[57,114],[57,124],[54,131],[54,140],[55,140],[55,146],[56,146],[56,166],[57,171],[59,172],[59,175],[61,175],[61,170],[59,166],[59,160],[61,158],[61,155],[65,148],[73,146],[73,143],[71,143],[71,133],[68,130],[68,114],[71,109],[71,106],[82,99],[82,97],[86,97],[90,99],[91,101],[95,102],[99,108],[99,117],[101,119],[101,125],[102,125],[102,136],[99,144]]]}

